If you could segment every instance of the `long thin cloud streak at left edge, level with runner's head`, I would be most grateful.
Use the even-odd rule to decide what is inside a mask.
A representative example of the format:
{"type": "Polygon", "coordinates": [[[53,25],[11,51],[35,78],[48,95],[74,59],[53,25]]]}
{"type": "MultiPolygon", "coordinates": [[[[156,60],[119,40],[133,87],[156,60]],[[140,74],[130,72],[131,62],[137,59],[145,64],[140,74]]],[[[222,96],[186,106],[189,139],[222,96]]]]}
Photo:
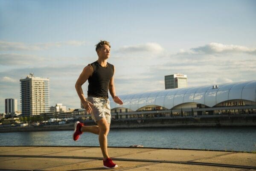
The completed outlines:
{"type": "Polygon", "coordinates": [[[61,46],[82,46],[85,41],[59,41],[49,43],[26,44],[23,42],[0,41],[0,51],[36,51],[61,46]]]}

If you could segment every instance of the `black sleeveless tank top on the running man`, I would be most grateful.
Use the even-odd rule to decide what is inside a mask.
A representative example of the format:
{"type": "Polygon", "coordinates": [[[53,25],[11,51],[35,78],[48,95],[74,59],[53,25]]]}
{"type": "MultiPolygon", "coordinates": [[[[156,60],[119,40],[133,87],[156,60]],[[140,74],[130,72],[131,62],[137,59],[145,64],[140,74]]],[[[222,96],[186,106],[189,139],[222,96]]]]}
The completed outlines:
{"type": "Polygon", "coordinates": [[[114,75],[114,66],[107,62],[107,66],[102,67],[97,61],[88,65],[92,67],[93,74],[88,78],[87,96],[107,99],[109,82],[114,75]]]}

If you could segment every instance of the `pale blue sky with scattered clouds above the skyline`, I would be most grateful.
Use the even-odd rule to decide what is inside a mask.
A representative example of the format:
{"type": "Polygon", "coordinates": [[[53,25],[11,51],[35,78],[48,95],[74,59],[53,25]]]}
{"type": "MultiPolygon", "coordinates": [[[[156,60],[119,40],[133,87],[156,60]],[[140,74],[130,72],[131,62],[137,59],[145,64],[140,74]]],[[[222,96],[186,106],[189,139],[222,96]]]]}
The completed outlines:
{"type": "Polygon", "coordinates": [[[0,0],[0,113],[29,72],[50,78],[51,105],[79,107],[74,84],[101,39],[117,94],[163,90],[174,73],[189,87],[255,80],[255,18],[255,0],[0,0]]]}

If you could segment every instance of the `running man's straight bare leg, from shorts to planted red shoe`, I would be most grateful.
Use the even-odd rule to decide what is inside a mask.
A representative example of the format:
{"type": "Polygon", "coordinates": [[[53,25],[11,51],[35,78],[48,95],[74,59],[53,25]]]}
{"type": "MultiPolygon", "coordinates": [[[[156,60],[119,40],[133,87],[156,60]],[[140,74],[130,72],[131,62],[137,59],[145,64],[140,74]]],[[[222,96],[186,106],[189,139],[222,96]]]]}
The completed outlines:
{"type": "Polygon", "coordinates": [[[106,118],[100,119],[97,122],[99,126],[99,145],[102,150],[102,155],[104,159],[108,159],[108,132],[110,124],[107,122],[106,118]]]}

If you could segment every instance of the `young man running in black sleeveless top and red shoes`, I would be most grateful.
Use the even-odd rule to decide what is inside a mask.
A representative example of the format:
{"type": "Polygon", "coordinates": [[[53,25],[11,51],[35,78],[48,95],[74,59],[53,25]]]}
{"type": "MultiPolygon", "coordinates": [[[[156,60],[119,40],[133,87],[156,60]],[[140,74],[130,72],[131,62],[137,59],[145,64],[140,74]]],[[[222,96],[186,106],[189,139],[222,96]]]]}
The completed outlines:
{"type": "Polygon", "coordinates": [[[103,154],[103,167],[118,167],[108,156],[108,132],[111,122],[111,112],[108,100],[108,90],[117,104],[123,104],[122,100],[116,96],[114,86],[115,67],[107,62],[110,57],[110,44],[108,41],[100,41],[96,45],[98,60],[88,64],[76,81],[76,91],[87,113],[90,113],[95,126],[84,126],[80,122],[75,123],[73,140],[77,141],[83,132],[90,132],[99,135],[99,145],[103,154]],[[85,98],[82,85],[89,82],[87,98],[85,98]]]}

